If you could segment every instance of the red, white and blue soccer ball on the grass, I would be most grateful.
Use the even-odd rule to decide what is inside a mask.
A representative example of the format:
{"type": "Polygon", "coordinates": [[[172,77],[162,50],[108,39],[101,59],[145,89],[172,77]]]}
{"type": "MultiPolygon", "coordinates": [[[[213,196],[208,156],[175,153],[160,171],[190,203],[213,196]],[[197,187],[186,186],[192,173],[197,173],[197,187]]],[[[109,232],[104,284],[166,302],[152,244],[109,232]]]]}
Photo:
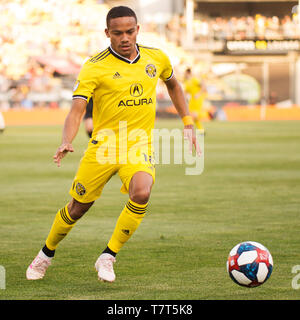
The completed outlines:
{"type": "Polygon", "coordinates": [[[257,287],[266,282],[273,270],[273,258],[262,244],[246,241],[237,244],[229,253],[227,272],[240,286],[257,287]]]}

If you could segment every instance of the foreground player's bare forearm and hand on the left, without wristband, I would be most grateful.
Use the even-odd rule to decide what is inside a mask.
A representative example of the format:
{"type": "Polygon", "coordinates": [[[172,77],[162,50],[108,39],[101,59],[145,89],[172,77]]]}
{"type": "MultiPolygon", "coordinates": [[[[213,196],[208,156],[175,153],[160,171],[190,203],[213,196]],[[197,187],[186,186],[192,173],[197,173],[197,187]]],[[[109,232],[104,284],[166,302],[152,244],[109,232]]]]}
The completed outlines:
{"type": "Polygon", "coordinates": [[[68,113],[62,135],[62,143],[53,156],[54,162],[60,167],[60,162],[68,152],[74,152],[72,141],[76,137],[80,127],[81,119],[86,110],[87,101],[84,99],[73,99],[70,112],[68,113]]]}

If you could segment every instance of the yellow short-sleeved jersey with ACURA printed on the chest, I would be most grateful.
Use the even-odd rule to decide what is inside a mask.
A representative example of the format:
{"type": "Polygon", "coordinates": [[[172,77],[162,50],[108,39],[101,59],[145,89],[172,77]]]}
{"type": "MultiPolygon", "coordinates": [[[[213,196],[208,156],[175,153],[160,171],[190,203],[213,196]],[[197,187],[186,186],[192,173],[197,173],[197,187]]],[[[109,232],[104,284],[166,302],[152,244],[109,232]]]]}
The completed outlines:
{"type": "MultiPolygon", "coordinates": [[[[137,44],[136,50],[136,58],[130,61],[110,46],[87,60],[78,75],[73,99],[93,98],[93,140],[99,141],[103,133],[109,132],[118,140],[120,130],[126,127],[129,140],[131,132],[134,140],[133,136],[142,130],[139,141],[151,142],[157,82],[168,81],[173,69],[160,49],[137,44]]],[[[129,141],[127,147],[134,143],[129,141]]]]}

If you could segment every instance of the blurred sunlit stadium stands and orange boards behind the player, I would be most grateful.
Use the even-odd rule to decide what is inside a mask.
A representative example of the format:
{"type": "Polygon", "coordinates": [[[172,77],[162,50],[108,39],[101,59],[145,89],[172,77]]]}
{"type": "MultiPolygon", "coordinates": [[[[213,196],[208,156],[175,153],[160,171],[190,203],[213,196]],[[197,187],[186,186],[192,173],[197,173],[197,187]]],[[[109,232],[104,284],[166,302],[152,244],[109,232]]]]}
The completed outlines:
{"type": "MultiPolygon", "coordinates": [[[[300,119],[298,1],[1,0],[7,126],[63,123],[80,66],[107,47],[106,13],[119,4],[137,12],[138,42],[165,50],[179,79],[188,67],[201,77],[217,119],[300,119]]],[[[158,116],[174,117],[163,85],[157,96],[158,116]]]]}

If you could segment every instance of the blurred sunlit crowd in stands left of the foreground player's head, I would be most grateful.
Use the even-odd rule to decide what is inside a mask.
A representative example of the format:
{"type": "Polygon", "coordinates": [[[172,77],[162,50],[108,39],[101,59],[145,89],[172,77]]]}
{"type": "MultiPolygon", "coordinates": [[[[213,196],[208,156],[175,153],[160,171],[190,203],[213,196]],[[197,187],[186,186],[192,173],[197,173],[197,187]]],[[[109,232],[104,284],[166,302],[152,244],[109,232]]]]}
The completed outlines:
{"type": "Polygon", "coordinates": [[[0,11],[5,31],[0,33],[2,108],[55,106],[63,79],[57,77],[58,63],[40,63],[40,58],[79,67],[107,45],[103,29],[108,8],[100,0],[1,1],[0,11]]]}

